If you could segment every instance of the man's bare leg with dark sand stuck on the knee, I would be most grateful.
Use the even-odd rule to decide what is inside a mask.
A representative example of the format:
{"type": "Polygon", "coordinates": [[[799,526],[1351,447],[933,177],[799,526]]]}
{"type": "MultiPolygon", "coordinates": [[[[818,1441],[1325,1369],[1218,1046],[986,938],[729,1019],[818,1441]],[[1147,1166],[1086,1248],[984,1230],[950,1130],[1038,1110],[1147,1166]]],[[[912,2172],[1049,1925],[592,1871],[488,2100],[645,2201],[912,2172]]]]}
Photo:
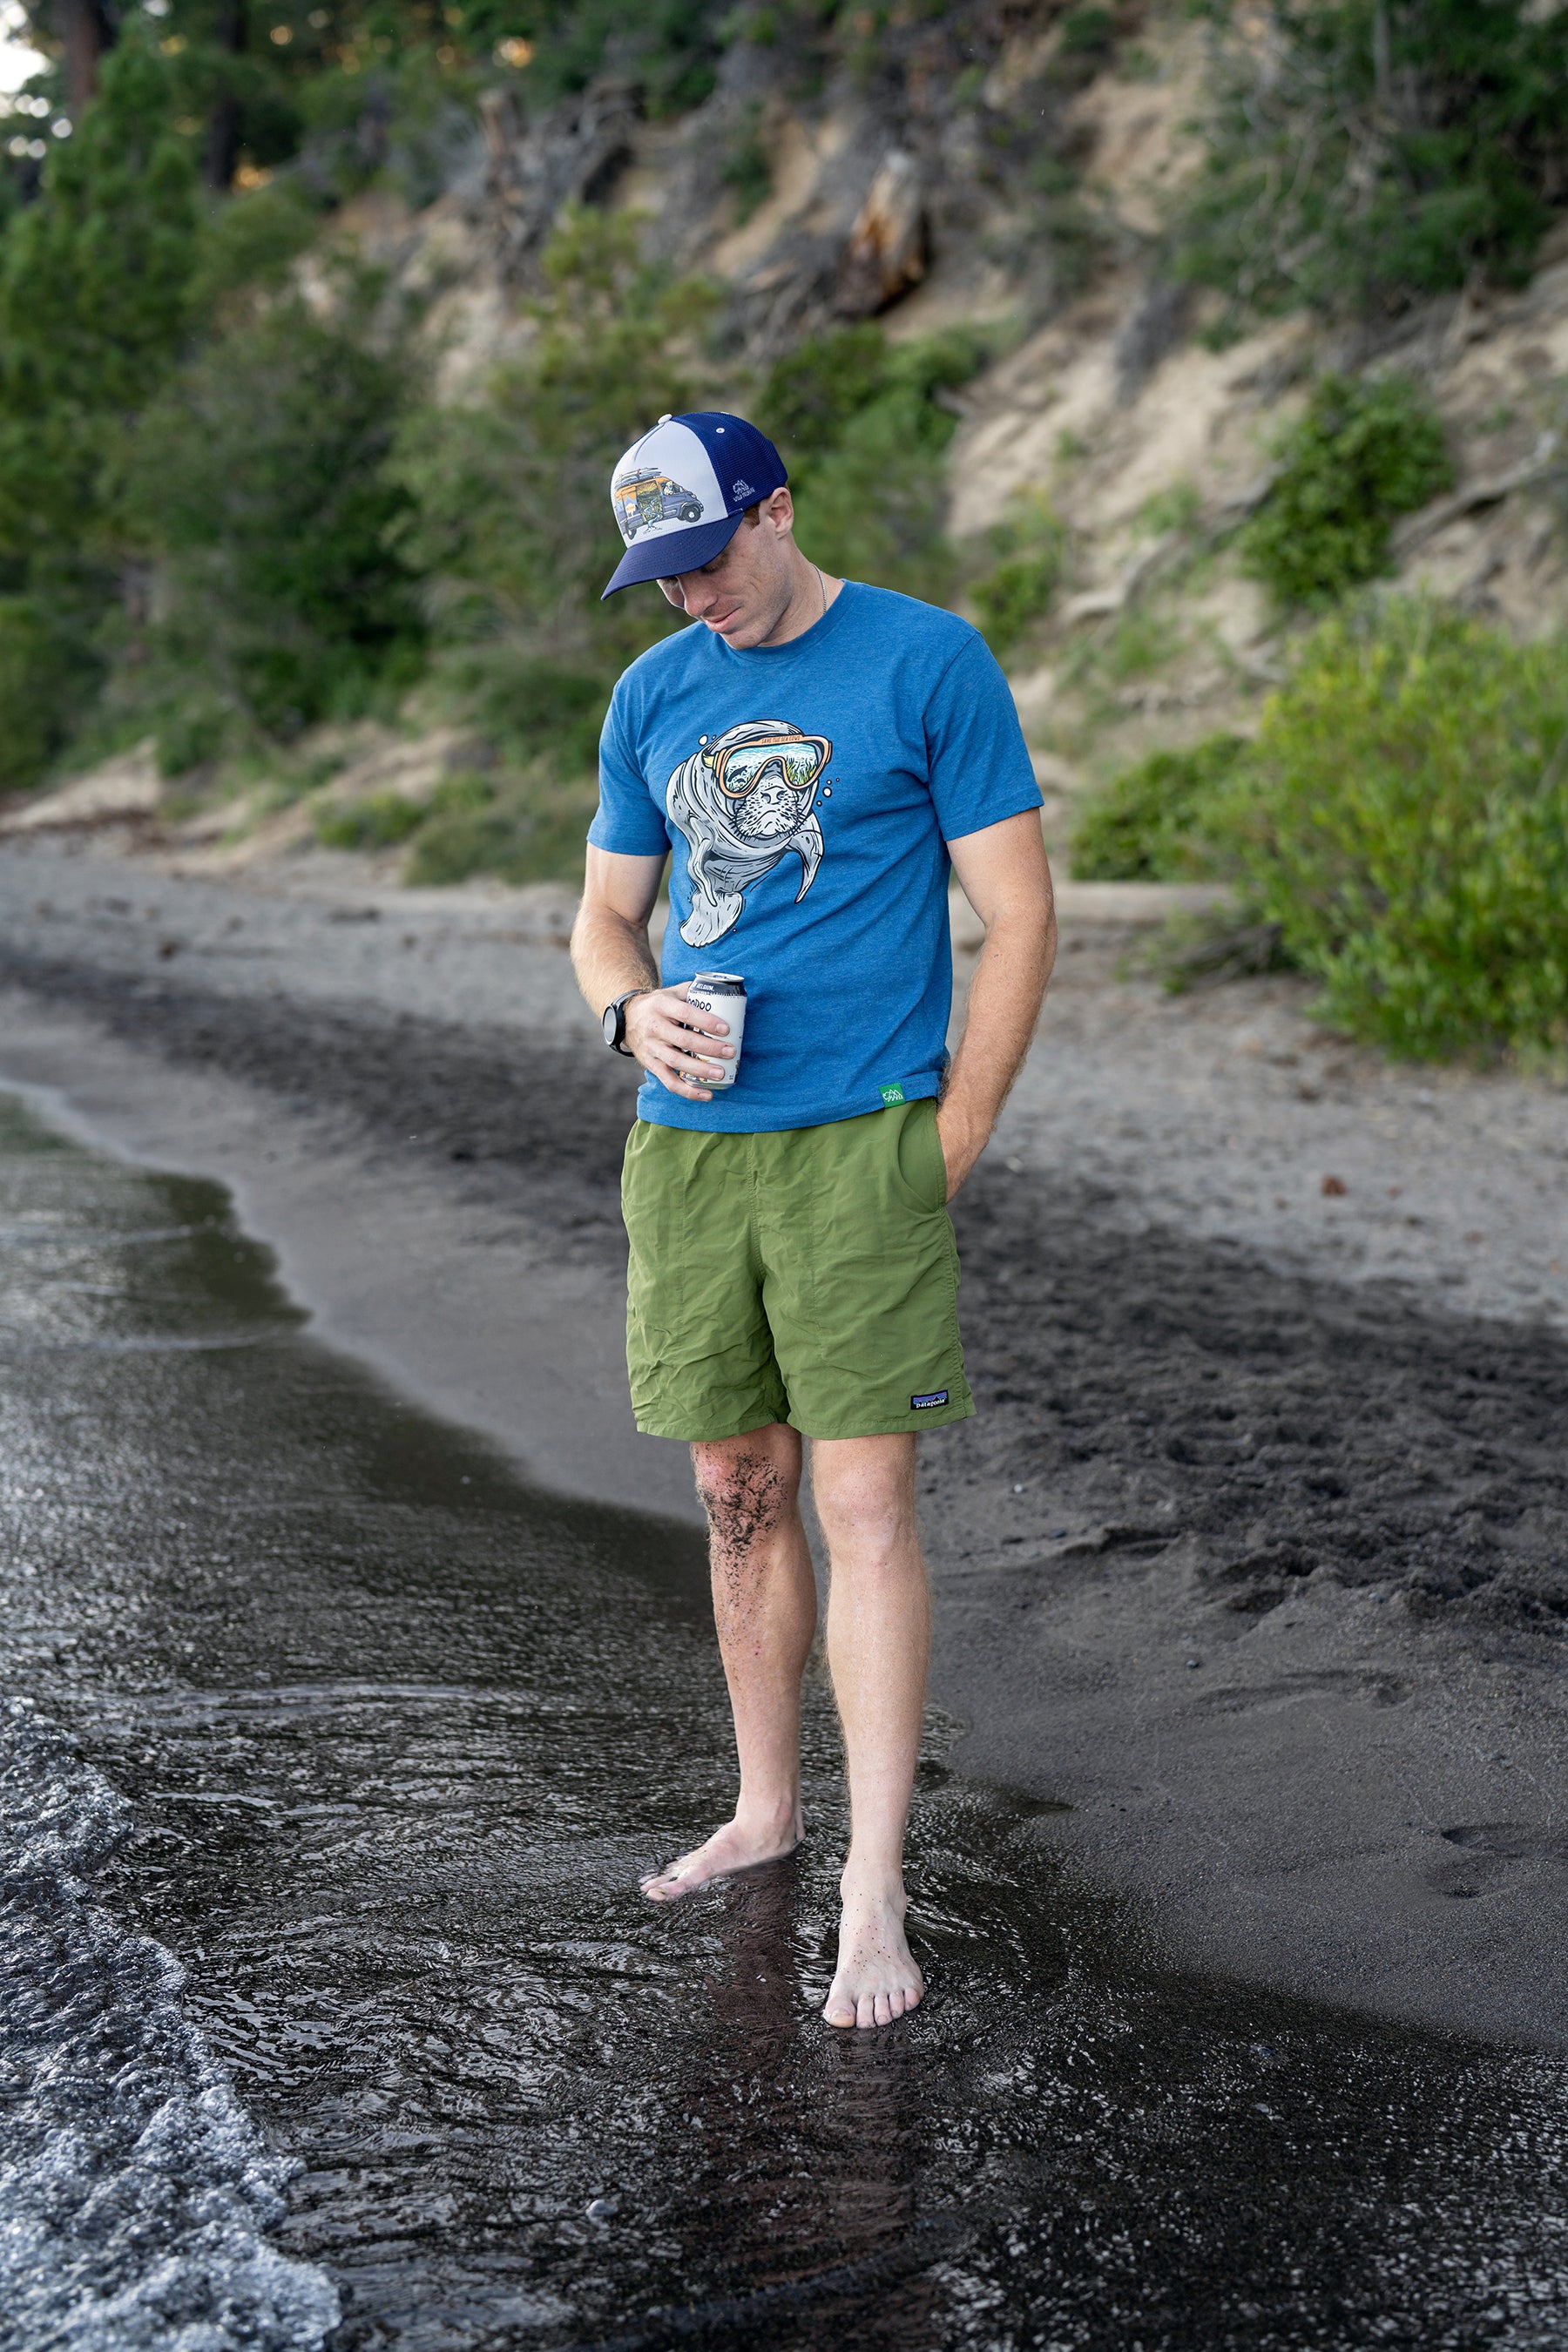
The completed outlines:
{"type": "Polygon", "coordinates": [[[708,1512],[712,1616],[736,1717],[736,1818],[642,1882],[672,1903],[731,1870],[790,1853],[802,1839],[799,1684],[816,1637],[816,1578],[799,1524],[799,1435],[773,1421],[745,1437],[691,1446],[708,1512]]]}

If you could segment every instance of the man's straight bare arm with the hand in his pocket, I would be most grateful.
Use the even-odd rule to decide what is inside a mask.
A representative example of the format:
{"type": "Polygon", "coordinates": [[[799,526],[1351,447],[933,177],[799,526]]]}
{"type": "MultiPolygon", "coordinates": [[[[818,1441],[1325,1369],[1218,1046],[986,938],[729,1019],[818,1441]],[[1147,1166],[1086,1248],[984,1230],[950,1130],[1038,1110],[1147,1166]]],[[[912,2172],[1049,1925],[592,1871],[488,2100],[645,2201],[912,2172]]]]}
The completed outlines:
{"type": "Polygon", "coordinates": [[[985,924],[964,1035],[936,1112],[952,1200],[990,1143],[997,1112],[1030,1051],[1056,962],[1056,903],[1039,809],[947,842],[947,856],[985,924]]]}

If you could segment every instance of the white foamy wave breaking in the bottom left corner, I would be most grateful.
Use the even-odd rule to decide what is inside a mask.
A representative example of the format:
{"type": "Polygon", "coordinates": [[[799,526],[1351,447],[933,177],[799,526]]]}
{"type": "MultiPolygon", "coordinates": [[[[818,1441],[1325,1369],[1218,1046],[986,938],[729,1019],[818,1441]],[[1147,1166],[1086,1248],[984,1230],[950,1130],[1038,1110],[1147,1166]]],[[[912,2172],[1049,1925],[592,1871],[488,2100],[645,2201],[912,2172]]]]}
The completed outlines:
{"type": "Polygon", "coordinates": [[[183,1971],[92,1900],[132,1809],[0,1708],[0,2347],[313,2352],[324,2272],[263,2232],[294,2164],[181,2016],[183,1971]]]}

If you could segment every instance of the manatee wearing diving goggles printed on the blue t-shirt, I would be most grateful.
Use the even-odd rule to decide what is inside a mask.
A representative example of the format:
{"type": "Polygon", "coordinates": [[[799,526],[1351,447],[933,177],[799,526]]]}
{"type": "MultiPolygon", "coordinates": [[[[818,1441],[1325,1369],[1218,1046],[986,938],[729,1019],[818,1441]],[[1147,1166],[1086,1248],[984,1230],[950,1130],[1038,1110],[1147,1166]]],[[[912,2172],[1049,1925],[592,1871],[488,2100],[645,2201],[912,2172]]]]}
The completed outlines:
{"type": "Polygon", "coordinates": [[[745,720],[698,750],[670,776],[665,807],[686,835],[691,913],[679,927],[689,948],[710,948],[741,917],[745,891],[795,854],[806,896],[823,863],[816,788],[832,760],[827,736],[802,734],[785,720],[745,720]]]}

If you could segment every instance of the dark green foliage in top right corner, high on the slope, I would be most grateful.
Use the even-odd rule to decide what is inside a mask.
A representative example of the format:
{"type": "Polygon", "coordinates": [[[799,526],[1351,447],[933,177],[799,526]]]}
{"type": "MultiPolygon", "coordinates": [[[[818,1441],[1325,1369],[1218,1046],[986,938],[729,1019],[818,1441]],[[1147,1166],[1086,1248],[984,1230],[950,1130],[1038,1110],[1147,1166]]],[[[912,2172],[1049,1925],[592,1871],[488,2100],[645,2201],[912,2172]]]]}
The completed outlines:
{"type": "Polygon", "coordinates": [[[1566,82],[1568,16],[1530,0],[1279,0],[1265,38],[1220,35],[1178,266],[1229,329],[1516,278],[1563,186],[1566,82]]]}

